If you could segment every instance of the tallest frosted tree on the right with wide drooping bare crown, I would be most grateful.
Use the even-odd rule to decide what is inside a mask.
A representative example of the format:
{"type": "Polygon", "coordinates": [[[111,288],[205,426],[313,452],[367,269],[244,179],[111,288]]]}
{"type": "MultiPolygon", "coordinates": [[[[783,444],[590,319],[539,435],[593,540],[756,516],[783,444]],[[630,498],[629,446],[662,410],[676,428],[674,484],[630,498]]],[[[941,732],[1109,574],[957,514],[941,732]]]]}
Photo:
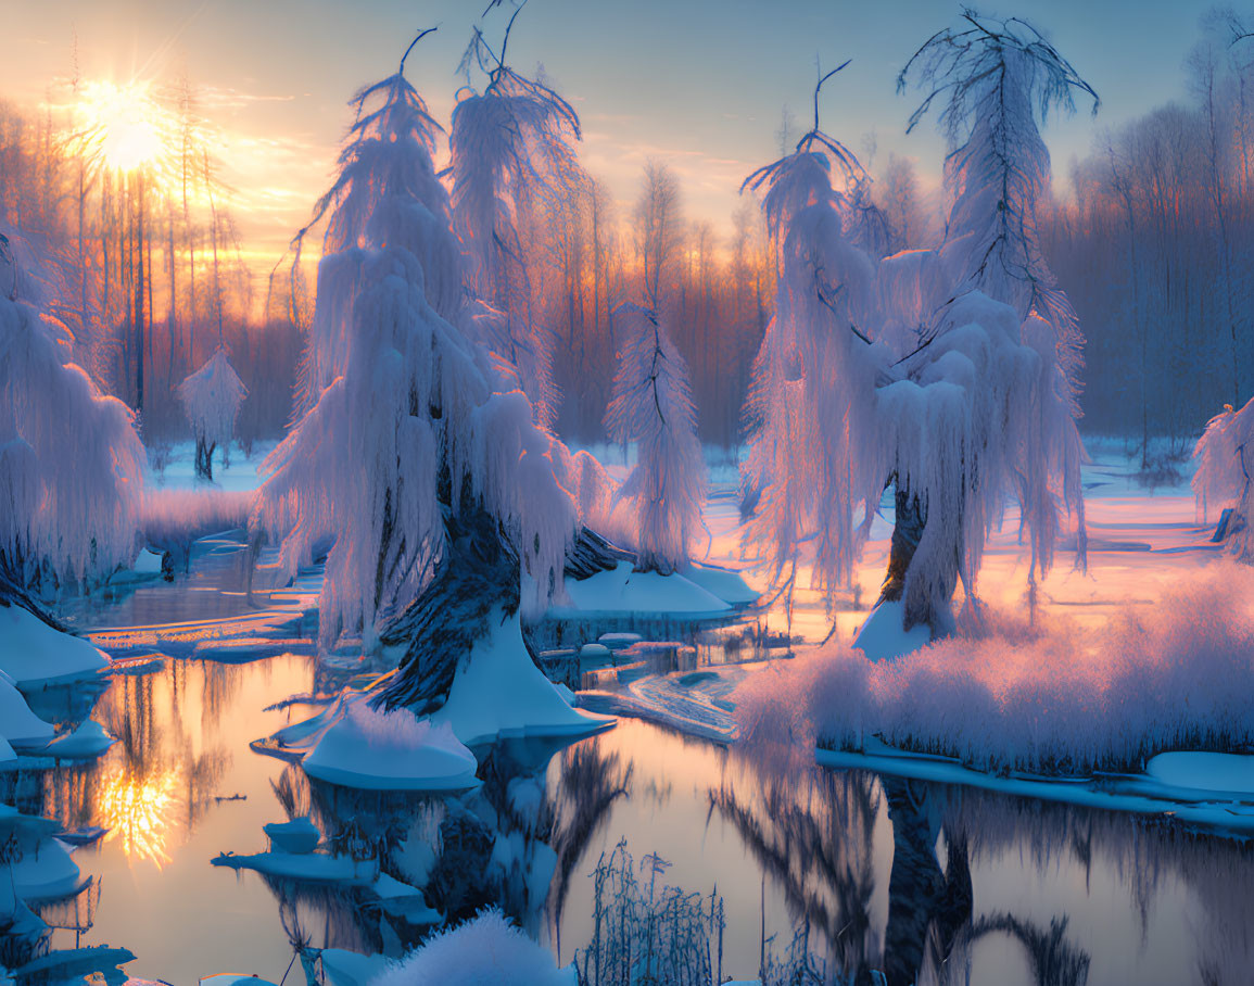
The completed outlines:
{"type": "MultiPolygon", "coordinates": [[[[1008,305],[1020,321],[1009,341],[1030,350],[1016,359],[1033,365],[1014,370],[1027,386],[1011,378],[989,381],[989,394],[1006,386],[1004,420],[998,427],[994,418],[993,424],[1007,444],[997,457],[1002,462],[993,462],[992,483],[987,470],[977,470],[974,463],[966,467],[973,479],[978,477],[981,496],[978,503],[967,498],[959,509],[967,513],[974,507],[972,519],[987,527],[1001,513],[988,499],[988,488],[1003,478],[1011,483],[1031,532],[1028,578],[1035,585],[1053,562],[1060,509],[1072,514],[1081,563],[1085,548],[1083,449],[1076,430],[1083,335],[1036,232],[1037,211],[1050,188],[1050,152],[1037,117],[1043,124],[1051,112],[1075,112],[1076,92],[1092,99],[1093,113],[1100,100],[1031,24],[1017,18],[996,21],[969,9],[962,16],[959,29],[929,38],[898,77],[899,89],[913,80],[927,93],[909,127],[940,100],[939,122],[956,146],[946,162],[953,207],[942,255],[957,275],[957,290],[939,310],[928,342],[935,345],[962,330],[979,296],[1008,305]]],[[[938,356],[928,351],[923,359],[934,363],[938,356]]],[[[967,554],[962,575],[969,581],[978,548],[972,553],[968,547],[967,554]]]]}

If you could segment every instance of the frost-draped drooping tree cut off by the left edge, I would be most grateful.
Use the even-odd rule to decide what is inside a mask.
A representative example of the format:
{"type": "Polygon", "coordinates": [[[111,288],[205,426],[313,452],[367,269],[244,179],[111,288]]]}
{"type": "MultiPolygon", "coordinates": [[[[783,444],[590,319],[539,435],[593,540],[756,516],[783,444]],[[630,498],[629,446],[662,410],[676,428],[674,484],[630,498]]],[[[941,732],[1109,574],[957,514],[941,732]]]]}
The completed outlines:
{"type": "Polygon", "coordinates": [[[18,270],[29,256],[20,237],[0,240],[3,601],[90,585],[130,565],[144,452],[127,406],[69,361],[69,330],[24,300],[23,285],[41,278],[18,270]]]}

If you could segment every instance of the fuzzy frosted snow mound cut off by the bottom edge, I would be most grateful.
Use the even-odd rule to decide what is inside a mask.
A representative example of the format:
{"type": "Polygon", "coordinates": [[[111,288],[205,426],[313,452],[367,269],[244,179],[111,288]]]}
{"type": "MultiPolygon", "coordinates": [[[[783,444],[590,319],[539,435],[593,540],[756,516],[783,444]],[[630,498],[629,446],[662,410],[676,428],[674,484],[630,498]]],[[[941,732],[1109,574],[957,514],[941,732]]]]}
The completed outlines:
{"type": "Polygon", "coordinates": [[[488,909],[455,928],[439,931],[371,986],[574,986],[573,966],[559,970],[552,952],[527,937],[499,911],[488,909]]]}

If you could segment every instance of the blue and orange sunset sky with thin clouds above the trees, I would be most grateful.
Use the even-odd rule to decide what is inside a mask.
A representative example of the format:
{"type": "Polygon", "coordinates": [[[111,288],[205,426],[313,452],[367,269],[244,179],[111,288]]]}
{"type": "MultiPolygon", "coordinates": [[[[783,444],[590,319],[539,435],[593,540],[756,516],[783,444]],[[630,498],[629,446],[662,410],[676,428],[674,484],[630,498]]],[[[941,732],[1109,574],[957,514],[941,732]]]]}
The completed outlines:
{"type": "MultiPolygon", "coordinates": [[[[488,0],[0,0],[9,43],[0,99],[65,99],[76,40],[83,79],[154,85],[187,77],[213,127],[247,252],[277,255],[327,187],[362,84],[390,74],[419,28],[439,30],[406,74],[448,124],[472,25],[495,41],[505,9],[488,0]]],[[[1186,99],[1184,69],[1209,0],[1004,0],[983,13],[1031,20],[1099,92],[1045,132],[1055,179],[1105,128],[1186,99]]],[[[874,174],[889,153],[939,181],[944,142],[928,119],[905,134],[918,98],[895,78],[927,38],[957,23],[942,0],[529,0],[509,43],[524,74],[543,66],[579,113],[581,156],[630,203],[650,158],[678,174],[690,218],[730,228],[744,178],[779,157],[788,107],[808,128],[816,63],[853,59],[823,90],[823,129],[874,174]]],[[[482,78],[472,78],[482,87],[482,78]]],[[[799,135],[799,134],[796,134],[799,135]]]]}

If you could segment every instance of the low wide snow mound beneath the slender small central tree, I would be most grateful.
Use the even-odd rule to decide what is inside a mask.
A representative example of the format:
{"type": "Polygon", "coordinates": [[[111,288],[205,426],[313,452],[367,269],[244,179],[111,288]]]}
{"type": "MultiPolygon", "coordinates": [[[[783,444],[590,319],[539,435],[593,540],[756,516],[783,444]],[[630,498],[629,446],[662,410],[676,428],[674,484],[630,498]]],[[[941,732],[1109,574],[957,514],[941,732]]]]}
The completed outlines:
{"type": "Polygon", "coordinates": [[[685,576],[637,572],[631,562],[618,562],[616,568],[597,572],[591,578],[568,578],[566,592],[571,605],[556,606],[549,610],[551,613],[642,613],[702,620],[725,616],[731,611],[731,606],[724,600],[685,576]]]}

